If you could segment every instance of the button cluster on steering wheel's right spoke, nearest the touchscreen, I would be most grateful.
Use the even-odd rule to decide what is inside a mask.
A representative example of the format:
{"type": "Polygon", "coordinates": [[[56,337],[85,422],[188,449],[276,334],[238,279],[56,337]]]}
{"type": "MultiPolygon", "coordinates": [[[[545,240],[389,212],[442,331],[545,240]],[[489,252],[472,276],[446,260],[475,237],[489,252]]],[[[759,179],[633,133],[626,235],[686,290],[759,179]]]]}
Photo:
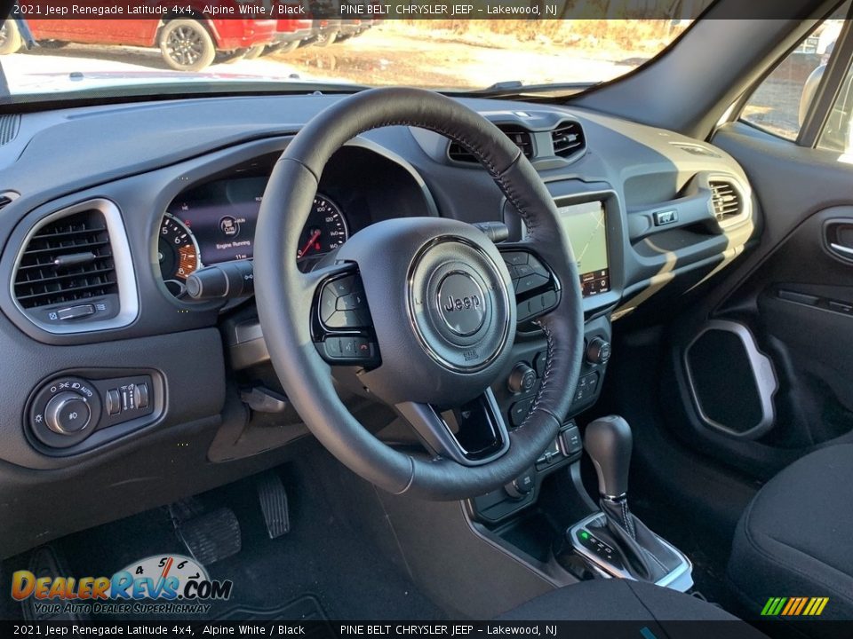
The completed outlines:
{"type": "Polygon", "coordinates": [[[501,244],[498,248],[513,280],[516,323],[524,324],[552,312],[560,304],[561,286],[546,261],[523,242],[501,244]]]}

